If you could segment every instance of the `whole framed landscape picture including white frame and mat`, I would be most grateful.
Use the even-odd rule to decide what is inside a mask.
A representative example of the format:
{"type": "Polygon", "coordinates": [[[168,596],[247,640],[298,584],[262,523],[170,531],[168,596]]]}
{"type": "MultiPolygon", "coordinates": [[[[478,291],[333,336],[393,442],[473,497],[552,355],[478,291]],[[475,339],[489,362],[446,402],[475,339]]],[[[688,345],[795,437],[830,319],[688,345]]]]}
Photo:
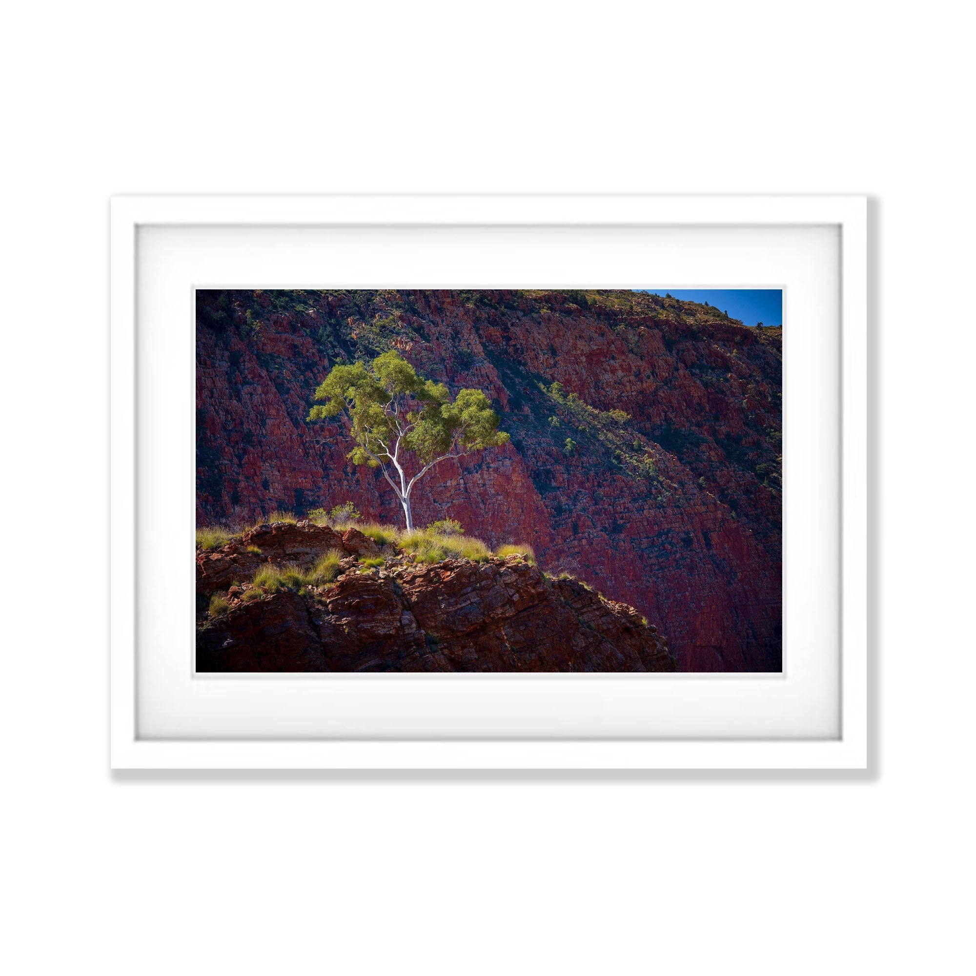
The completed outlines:
{"type": "Polygon", "coordinates": [[[868,763],[864,197],[117,197],[115,768],[868,763]]]}

